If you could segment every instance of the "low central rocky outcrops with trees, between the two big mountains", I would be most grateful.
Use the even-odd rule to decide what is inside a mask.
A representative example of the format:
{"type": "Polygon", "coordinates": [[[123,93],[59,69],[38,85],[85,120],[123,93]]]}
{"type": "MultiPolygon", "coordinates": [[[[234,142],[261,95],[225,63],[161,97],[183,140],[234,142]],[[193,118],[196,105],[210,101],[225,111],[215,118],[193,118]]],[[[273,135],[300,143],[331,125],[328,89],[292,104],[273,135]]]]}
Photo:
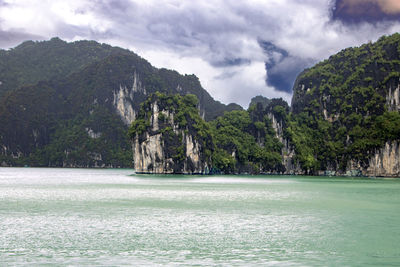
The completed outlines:
{"type": "Polygon", "coordinates": [[[206,122],[195,95],[156,93],[130,128],[137,173],[283,173],[279,134],[289,106],[272,99],[206,122]],[[276,129],[275,129],[276,127],[276,129]]]}

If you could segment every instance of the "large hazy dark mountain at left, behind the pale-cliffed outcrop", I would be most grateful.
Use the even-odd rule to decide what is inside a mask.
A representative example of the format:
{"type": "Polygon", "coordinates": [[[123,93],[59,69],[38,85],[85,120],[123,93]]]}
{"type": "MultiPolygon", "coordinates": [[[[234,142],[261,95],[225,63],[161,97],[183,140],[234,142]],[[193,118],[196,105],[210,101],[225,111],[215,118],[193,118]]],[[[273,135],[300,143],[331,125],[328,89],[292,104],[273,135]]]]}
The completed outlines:
{"type": "Polygon", "coordinates": [[[215,101],[194,75],[93,41],[53,38],[0,54],[10,64],[0,85],[3,165],[131,166],[126,132],[155,92],[196,95],[206,120],[240,108],[215,101]]]}

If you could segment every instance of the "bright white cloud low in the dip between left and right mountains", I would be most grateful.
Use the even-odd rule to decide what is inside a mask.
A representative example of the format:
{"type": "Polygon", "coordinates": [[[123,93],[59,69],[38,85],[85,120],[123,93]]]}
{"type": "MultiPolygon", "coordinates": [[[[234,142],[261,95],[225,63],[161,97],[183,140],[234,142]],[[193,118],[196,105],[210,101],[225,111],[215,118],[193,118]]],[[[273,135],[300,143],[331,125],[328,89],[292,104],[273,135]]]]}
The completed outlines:
{"type": "Polygon", "coordinates": [[[247,108],[255,95],[282,97],[289,103],[291,100],[290,94],[265,85],[263,61],[215,68],[200,57],[177,56],[168,51],[142,51],[140,54],[156,67],[174,69],[182,74],[196,73],[202,86],[216,100],[225,104],[235,102],[247,108]]]}

